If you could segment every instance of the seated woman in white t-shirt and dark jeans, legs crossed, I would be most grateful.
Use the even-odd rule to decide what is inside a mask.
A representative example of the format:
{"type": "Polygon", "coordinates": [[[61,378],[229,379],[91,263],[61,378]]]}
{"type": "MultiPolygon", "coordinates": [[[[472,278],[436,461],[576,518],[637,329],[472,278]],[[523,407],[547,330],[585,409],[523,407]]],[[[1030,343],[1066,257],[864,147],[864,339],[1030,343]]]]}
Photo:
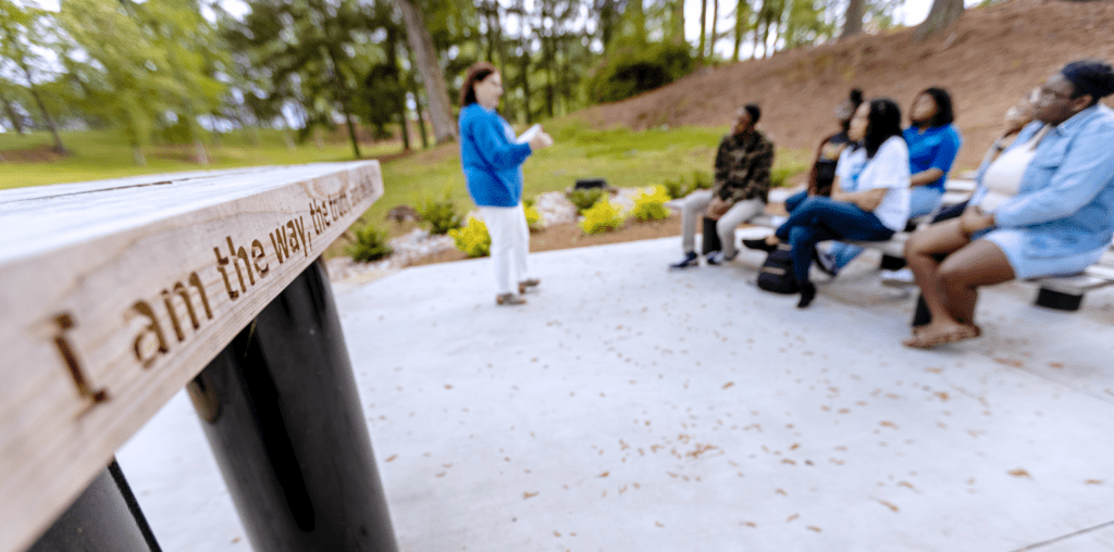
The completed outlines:
{"type": "Polygon", "coordinates": [[[862,147],[844,149],[831,197],[810,197],[785,224],[765,239],[744,239],[753,249],[772,252],[780,241],[793,247],[793,277],[800,289],[798,307],[817,295],[809,282],[815,245],[828,239],[885,241],[909,218],[909,149],[901,137],[901,109],[889,99],[859,106],[849,136],[862,147]],[[844,185],[847,183],[847,185],[844,185]],[[854,191],[844,191],[852,189],[854,191]]]}

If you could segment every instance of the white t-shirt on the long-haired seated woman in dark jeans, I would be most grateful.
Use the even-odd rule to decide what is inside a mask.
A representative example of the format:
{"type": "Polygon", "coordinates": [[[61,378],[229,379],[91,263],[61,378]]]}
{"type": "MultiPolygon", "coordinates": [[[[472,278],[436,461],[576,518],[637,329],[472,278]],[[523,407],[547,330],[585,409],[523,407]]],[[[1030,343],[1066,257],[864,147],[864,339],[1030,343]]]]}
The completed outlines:
{"type": "Polygon", "coordinates": [[[866,191],[890,188],[882,203],[874,208],[874,216],[893,231],[905,229],[909,220],[909,147],[905,138],[891,136],[882,142],[874,157],[867,159],[867,148],[854,151],[844,149],[836,166],[840,189],[866,191]]]}

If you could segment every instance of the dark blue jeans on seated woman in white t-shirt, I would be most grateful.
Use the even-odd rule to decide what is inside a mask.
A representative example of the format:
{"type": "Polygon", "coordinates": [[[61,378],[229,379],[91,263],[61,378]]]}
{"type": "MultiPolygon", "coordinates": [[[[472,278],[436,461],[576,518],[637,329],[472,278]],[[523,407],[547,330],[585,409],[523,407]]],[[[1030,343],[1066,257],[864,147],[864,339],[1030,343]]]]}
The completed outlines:
{"type": "Polygon", "coordinates": [[[820,241],[885,241],[893,236],[893,230],[858,205],[815,196],[799,205],[774,235],[793,246],[793,277],[798,284],[804,284],[809,280],[812,252],[820,241]]]}

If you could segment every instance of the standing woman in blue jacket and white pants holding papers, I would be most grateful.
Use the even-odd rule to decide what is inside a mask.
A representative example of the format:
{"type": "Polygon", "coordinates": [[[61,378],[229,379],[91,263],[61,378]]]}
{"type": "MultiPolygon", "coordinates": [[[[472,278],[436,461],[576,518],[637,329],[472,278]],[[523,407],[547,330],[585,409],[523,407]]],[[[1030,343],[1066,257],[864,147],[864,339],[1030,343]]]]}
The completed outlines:
{"type": "Polygon", "coordinates": [[[521,294],[541,283],[529,277],[526,255],[530,230],[522,210],[522,162],[534,150],[553,145],[545,131],[526,144],[515,142],[515,131],[496,108],[502,97],[502,77],[486,61],[472,65],[460,89],[460,162],[468,194],[479,207],[491,235],[497,305],[522,305],[521,294]],[[511,290],[511,269],[518,278],[511,290]]]}

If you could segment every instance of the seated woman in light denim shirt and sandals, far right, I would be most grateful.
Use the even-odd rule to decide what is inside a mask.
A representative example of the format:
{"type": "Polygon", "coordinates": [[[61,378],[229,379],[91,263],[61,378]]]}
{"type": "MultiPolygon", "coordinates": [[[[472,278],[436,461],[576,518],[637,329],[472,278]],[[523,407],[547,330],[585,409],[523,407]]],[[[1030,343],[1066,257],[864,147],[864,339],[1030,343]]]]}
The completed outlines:
{"type": "Polygon", "coordinates": [[[979,286],[1078,273],[1110,247],[1114,111],[1098,100],[1111,93],[1114,70],[1101,61],[1075,61],[1049,77],[1036,120],[983,175],[986,189],[1005,199],[977,194],[959,218],[910,237],[906,258],[931,322],[905,345],[977,337],[979,286]],[[947,257],[938,262],[937,255],[947,257]]]}

